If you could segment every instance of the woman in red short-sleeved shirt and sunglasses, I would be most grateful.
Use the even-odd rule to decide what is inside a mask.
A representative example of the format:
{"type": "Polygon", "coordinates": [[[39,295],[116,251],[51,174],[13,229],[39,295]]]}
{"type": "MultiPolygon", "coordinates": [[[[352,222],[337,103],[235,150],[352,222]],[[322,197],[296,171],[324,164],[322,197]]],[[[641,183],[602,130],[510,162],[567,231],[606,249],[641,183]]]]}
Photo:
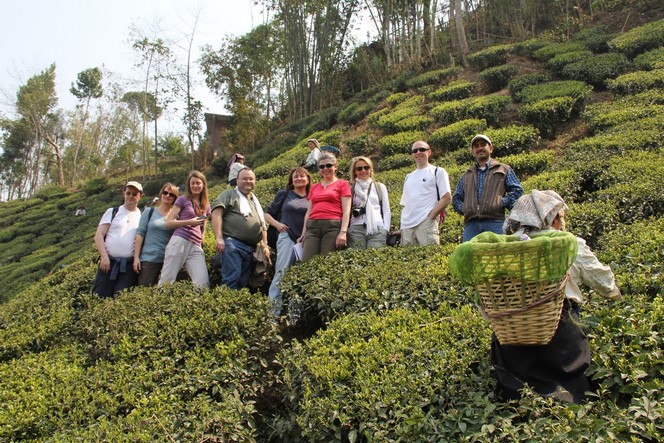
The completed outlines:
{"type": "Polygon", "coordinates": [[[309,207],[304,216],[302,261],[318,254],[345,248],[350,220],[350,185],[337,178],[337,158],[324,153],[318,159],[321,181],[309,191],[309,207]]]}

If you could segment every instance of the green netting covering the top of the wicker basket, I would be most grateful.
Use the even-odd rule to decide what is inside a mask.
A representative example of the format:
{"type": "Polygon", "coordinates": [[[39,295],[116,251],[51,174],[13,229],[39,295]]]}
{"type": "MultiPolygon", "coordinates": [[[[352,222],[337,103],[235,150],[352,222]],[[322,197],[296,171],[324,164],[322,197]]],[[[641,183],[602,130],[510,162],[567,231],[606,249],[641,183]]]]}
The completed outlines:
{"type": "Polygon", "coordinates": [[[475,286],[496,277],[523,281],[562,278],[576,259],[576,237],[554,231],[522,241],[518,235],[484,232],[456,247],[449,259],[450,272],[475,286]]]}

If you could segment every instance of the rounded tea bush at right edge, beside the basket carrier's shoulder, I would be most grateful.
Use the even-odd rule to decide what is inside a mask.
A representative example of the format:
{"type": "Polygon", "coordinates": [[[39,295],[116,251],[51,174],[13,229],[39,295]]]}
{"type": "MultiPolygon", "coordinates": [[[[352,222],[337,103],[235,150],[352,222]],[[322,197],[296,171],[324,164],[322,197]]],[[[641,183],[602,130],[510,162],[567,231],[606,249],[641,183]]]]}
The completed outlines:
{"type": "Polygon", "coordinates": [[[647,294],[654,299],[664,291],[664,217],[619,225],[600,240],[600,258],[610,264],[623,294],[647,294]]]}

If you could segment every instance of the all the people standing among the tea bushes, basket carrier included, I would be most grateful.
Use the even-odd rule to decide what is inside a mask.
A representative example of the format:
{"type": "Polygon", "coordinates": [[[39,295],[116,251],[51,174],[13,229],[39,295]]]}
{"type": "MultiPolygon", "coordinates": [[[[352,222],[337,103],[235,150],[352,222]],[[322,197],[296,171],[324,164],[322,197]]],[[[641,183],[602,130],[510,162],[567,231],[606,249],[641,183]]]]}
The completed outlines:
{"type": "MultiPolygon", "coordinates": [[[[124,204],[106,211],[95,235],[101,261],[94,291],[110,297],[136,284],[163,285],[175,281],[183,267],[196,287],[207,288],[209,277],[202,241],[208,218],[215,236],[215,250],[221,255],[221,283],[232,289],[247,286],[257,250],[269,260],[267,226],[276,229],[275,273],[268,291],[276,316],[282,310],[281,281],[295,262],[297,247],[301,248],[299,258],[307,261],[345,247],[384,246],[391,227],[389,197],[386,186],[374,180],[371,159],[354,157],[347,181],[338,177],[338,152],[321,151],[315,139],[308,140],[308,146],[311,153],[304,166],[289,171],[286,189],[279,191],[265,210],[253,193],[256,176],[239,154],[232,159],[233,165],[240,165],[232,171],[234,185],[212,203],[208,201],[204,175],[193,171],[187,179],[185,195],[179,196],[178,188],[166,183],[159,204],[141,214],[138,202],[143,188],[140,183],[128,182],[123,190],[124,204]],[[310,174],[314,167],[320,176],[317,183],[312,183],[310,174]]],[[[428,143],[423,140],[413,143],[410,152],[416,169],[406,176],[400,200],[403,245],[438,244],[439,223],[450,203],[464,217],[463,241],[482,232],[502,234],[515,230],[514,217],[519,211],[513,211],[515,216],[507,221],[506,211],[530,195],[523,196],[523,188],[512,168],[491,158],[493,148],[486,135],[473,137],[470,149],[475,161],[462,174],[452,194],[447,171],[429,163],[432,152],[428,143]]],[[[550,217],[548,225],[536,226],[533,232],[561,229],[562,207],[555,215],[550,217]]],[[[610,268],[602,266],[582,240],[579,250],[580,258],[575,262],[566,291],[568,299],[574,302],[569,306],[578,306],[582,301],[577,286],[580,283],[589,284],[610,298],[618,298],[620,292],[610,268]],[[597,276],[601,276],[601,283],[597,276]]],[[[563,361],[567,364],[565,369],[560,369],[561,362],[555,357],[560,355],[555,351],[556,346],[561,346],[560,340],[553,345],[554,350],[543,347],[537,351],[541,358],[529,358],[532,366],[529,367],[519,362],[525,354],[535,352],[534,347],[523,350],[500,346],[494,339],[492,359],[500,369],[499,376],[503,378],[499,377],[499,381],[507,392],[516,392],[525,382],[541,387],[542,391],[550,390],[551,386],[560,386],[559,380],[571,377],[569,372],[573,372],[575,381],[564,386],[573,391],[572,401],[582,398],[583,390],[588,387],[582,378],[589,353],[583,333],[569,332],[570,327],[576,327],[570,318],[574,318],[573,312],[563,316],[560,323],[562,346],[575,349],[573,355],[562,352],[573,360],[563,361]],[[547,361],[544,356],[554,361],[547,361]],[[552,367],[558,370],[553,375],[552,367]],[[550,380],[529,378],[541,373],[550,380]]]]}

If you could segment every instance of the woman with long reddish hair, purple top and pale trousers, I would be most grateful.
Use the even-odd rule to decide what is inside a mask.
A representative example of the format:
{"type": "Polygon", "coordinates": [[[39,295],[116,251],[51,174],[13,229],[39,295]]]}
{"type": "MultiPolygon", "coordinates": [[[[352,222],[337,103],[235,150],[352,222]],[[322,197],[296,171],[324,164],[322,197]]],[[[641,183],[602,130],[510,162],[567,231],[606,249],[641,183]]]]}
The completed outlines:
{"type": "Polygon", "coordinates": [[[203,233],[211,210],[207,181],[201,172],[189,173],[185,194],[175,200],[166,217],[166,227],[175,231],[166,246],[159,286],[174,282],[184,266],[195,287],[208,288],[210,276],[203,252],[203,233]]]}

